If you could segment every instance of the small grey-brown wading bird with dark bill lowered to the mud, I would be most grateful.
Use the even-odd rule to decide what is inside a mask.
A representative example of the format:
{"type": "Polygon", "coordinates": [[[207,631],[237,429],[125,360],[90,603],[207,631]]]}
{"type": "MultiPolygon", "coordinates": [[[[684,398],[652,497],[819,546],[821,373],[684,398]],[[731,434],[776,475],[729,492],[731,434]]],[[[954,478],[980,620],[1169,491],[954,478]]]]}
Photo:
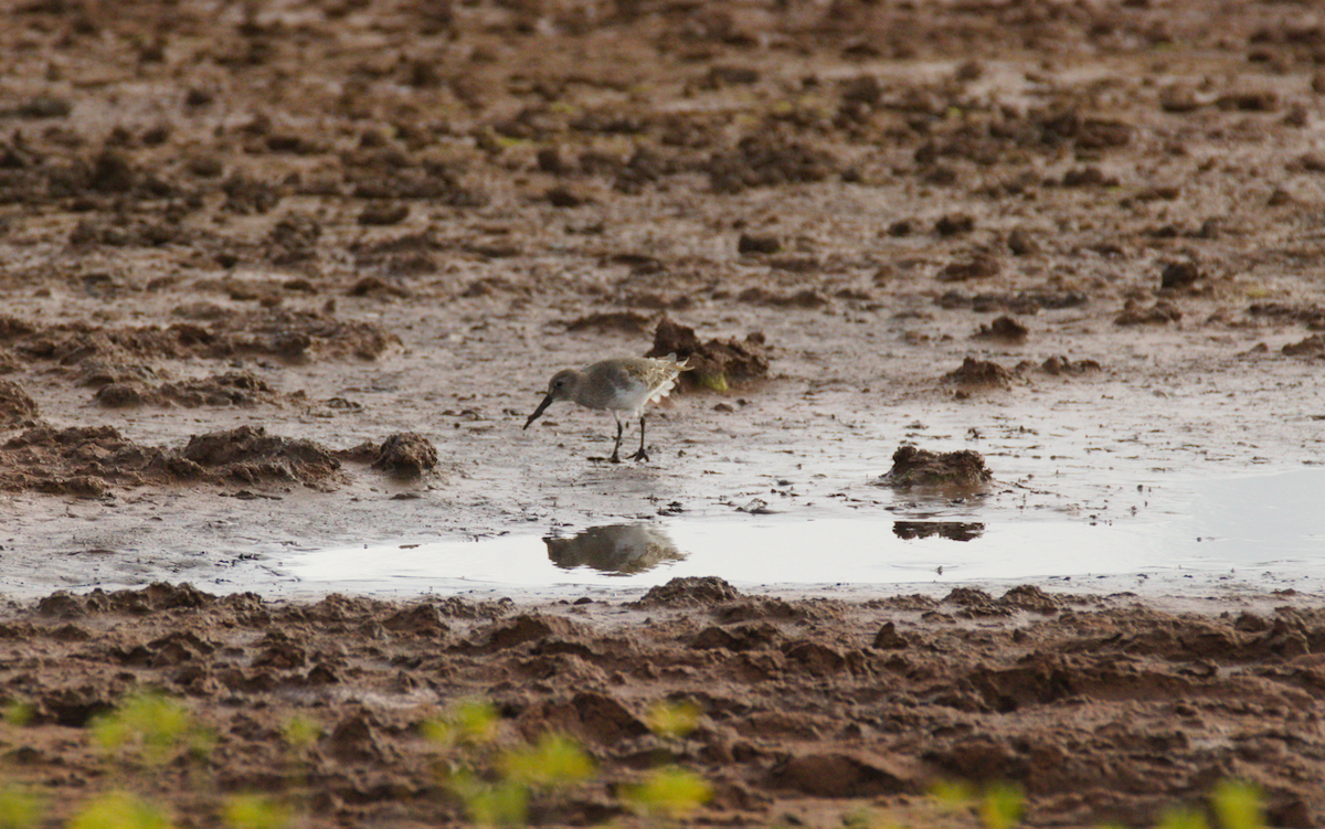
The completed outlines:
{"type": "Polygon", "coordinates": [[[676,388],[676,379],[682,371],[689,371],[685,360],[677,362],[674,354],[661,359],[652,358],[612,358],[584,368],[559,371],[547,384],[547,396],[538,404],[534,413],[525,421],[525,428],[538,420],[547,407],[558,400],[574,400],[587,409],[607,409],[616,420],[616,444],[612,445],[613,463],[620,463],[621,432],[627,420],[640,418],[640,450],[631,456],[635,461],[648,461],[644,452],[644,407],[657,403],[676,388]]]}

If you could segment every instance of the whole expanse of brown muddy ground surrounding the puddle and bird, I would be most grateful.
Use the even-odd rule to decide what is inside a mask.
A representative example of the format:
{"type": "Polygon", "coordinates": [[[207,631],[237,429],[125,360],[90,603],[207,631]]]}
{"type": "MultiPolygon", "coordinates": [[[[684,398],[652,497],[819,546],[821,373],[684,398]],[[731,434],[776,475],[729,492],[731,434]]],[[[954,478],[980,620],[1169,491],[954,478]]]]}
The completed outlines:
{"type": "MultiPolygon", "coordinates": [[[[272,597],[282,551],[753,498],[892,522],[904,442],[982,453],[979,509],[1092,520],[1166,474],[1320,462],[1322,44],[1301,3],[3,4],[0,588],[272,597]],[[611,422],[567,405],[521,430],[556,369],[678,342],[704,380],[649,463],[591,460],[611,422]]],[[[1227,775],[1320,820],[1304,596],[117,601],[9,612],[44,740],[15,756],[61,792],[99,780],[58,730],[154,682],[228,735],[221,787],[289,783],[252,769],[290,707],[344,723],[329,824],[453,816],[392,760],[415,706],[473,690],[617,776],[662,751],[645,701],[700,699],[676,752],[717,822],[938,773],[1022,783],[1037,824],[1227,775]],[[522,613],[575,622],[484,644],[522,613]],[[303,656],[256,665],[281,637],[303,656]]]]}

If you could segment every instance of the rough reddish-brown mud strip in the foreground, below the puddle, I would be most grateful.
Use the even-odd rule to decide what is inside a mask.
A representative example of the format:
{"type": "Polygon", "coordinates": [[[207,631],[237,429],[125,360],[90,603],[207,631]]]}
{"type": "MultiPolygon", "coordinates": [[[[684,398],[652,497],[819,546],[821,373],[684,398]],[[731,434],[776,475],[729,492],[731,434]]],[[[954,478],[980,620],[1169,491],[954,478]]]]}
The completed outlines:
{"type": "Polygon", "coordinates": [[[1228,779],[1260,788],[1271,825],[1320,825],[1325,616],[1297,596],[1167,604],[775,599],[717,579],[545,605],[58,593],[0,622],[5,697],[30,714],[0,726],[5,775],[61,814],[131,785],[186,826],[236,792],[302,804],[303,825],[449,824],[466,816],[444,769],[482,763],[427,723],[481,698],[500,744],[558,732],[596,765],[535,792],[535,825],[643,820],[623,792],[673,765],[712,789],[697,825],[978,825],[928,797],[943,780],[1020,788],[1030,825],[1153,825],[1228,779]],[[205,752],[94,748],[89,723],[143,687],[183,701],[205,752]],[[659,731],[660,705],[693,727],[659,731]]]}

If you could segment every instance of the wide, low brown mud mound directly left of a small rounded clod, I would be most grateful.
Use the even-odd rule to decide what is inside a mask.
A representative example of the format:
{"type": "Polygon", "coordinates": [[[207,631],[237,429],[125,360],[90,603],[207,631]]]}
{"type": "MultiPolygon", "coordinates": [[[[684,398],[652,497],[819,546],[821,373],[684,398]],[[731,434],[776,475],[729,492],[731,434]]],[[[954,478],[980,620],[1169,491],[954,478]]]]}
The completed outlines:
{"type": "Polygon", "coordinates": [[[330,489],[343,478],[341,461],[321,444],[268,434],[262,426],[195,436],[182,454],[209,474],[235,483],[294,482],[330,489]]]}

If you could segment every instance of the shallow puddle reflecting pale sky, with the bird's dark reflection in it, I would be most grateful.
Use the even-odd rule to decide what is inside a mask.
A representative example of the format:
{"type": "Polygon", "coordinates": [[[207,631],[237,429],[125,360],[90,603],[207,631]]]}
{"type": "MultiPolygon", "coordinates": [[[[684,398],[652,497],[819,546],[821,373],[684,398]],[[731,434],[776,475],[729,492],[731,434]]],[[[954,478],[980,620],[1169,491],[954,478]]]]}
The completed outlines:
{"type": "MultiPolygon", "coordinates": [[[[677,576],[737,585],[905,584],[1145,573],[1316,575],[1325,470],[1175,483],[1133,519],[1027,515],[996,503],[869,514],[620,522],[553,538],[367,544],[286,556],[307,589],[452,592],[649,587],[677,576]]],[[[931,505],[933,507],[933,505],[931,505]]]]}

